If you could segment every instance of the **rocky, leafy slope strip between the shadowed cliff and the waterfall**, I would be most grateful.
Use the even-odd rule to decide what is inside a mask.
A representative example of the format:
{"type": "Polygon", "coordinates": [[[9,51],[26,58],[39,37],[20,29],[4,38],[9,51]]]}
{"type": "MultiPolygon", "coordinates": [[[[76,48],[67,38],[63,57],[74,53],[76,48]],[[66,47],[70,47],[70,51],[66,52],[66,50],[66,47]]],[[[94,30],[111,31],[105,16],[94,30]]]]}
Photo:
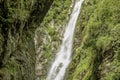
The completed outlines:
{"type": "Polygon", "coordinates": [[[71,13],[71,4],[71,0],[54,0],[41,26],[36,30],[36,75],[40,80],[46,78],[51,61],[61,44],[65,25],[71,13]]]}

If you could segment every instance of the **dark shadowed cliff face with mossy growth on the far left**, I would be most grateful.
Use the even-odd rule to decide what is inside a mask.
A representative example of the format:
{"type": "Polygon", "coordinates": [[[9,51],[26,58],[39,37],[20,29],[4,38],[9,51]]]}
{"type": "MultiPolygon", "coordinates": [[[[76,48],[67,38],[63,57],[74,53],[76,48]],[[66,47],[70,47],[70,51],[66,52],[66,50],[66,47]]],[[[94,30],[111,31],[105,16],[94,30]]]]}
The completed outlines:
{"type": "Polygon", "coordinates": [[[34,31],[53,0],[0,0],[0,80],[35,80],[34,31]]]}

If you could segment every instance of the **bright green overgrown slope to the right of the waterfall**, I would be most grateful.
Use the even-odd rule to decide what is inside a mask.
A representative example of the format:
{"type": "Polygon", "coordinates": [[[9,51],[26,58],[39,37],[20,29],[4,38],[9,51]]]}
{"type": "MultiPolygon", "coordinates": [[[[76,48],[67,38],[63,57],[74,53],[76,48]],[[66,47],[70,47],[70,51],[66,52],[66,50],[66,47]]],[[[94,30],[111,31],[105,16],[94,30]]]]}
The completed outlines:
{"type": "Polygon", "coordinates": [[[66,80],[120,80],[120,0],[85,0],[66,80]]]}

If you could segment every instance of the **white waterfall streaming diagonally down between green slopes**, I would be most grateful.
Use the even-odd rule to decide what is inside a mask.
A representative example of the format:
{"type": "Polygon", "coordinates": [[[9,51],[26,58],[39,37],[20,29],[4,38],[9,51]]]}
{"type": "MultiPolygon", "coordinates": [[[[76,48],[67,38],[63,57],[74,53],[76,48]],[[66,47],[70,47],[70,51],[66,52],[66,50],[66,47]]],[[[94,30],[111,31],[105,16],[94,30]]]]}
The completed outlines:
{"type": "Polygon", "coordinates": [[[70,63],[71,50],[73,44],[73,35],[75,24],[80,13],[81,5],[83,0],[77,0],[70,16],[70,21],[67,25],[66,31],[64,33],[64,38],[59,52],[56,55],[55,61],[53,62],[50,72],[46,80],[62,80],[66,68],[70,63]]]}

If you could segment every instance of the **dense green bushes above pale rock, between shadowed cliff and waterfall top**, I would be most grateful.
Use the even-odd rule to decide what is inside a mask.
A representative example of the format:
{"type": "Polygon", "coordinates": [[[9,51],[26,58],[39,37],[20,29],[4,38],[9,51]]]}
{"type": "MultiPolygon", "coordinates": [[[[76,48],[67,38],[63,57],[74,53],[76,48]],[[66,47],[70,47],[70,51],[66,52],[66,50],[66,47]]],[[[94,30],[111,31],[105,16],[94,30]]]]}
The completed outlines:
{"type": "MultiPolygon", "coordinates": [[[[68,0],[54,0],[51,9],[48,11],[42,24],[47,25],[53,22],[55,26],[65,24],[67,14],[70,10],[71,1],[68,0]]],[[[46,27],[47,27],[46,26],[46,27]]]]}

